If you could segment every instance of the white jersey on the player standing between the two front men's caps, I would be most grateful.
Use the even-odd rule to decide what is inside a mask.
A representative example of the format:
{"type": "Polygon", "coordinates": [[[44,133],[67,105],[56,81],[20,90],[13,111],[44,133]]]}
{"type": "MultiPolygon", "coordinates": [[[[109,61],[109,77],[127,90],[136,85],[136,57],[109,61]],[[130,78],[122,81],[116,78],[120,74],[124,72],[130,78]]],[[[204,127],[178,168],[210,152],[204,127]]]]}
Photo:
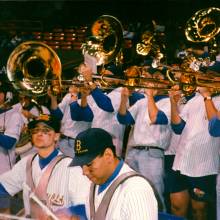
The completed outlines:
{"type": "MultiPolygon", "coordinates": [[[[61,133],[68,137],[75,138],[81,131],[90,128],[91,123],[72,120],[69,106],[71,102],[71,94],[67,93],[58,106],[63,113],[63,118],[61,121],[61,133]]],[[[78,102],[80,103],[80,100],[78,102]]]]}

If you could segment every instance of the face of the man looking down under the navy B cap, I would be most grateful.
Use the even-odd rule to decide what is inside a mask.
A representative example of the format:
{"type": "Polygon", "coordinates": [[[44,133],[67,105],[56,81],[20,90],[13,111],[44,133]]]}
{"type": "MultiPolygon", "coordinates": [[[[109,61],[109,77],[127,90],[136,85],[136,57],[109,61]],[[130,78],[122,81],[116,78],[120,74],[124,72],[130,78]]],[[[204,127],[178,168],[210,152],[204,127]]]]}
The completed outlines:
{"type": "Polygon", "coordinates": [[[108,179],[108,163],[105,155],[97,156],[92,162],[82,167],[83,175],[86,175],[93,183],[100,185],[108,179]]]}

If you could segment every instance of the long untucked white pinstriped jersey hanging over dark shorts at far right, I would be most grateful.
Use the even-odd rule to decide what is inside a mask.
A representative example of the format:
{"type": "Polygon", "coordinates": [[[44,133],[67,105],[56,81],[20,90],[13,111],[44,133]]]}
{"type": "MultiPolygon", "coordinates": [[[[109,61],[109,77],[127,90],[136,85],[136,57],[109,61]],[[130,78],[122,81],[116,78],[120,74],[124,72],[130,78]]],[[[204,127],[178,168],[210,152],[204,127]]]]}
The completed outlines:
{"type": "MultiPolygon", "coordinates": [[[[213,97],[213,102],[219,109],[220,96],[213,97]]],[[[192,177],[217,174],[220,138],[209,134],[203,97],[196,94],[187,102],[180,116],[186,125],[180,137],[173,169],[192,177]]]]}

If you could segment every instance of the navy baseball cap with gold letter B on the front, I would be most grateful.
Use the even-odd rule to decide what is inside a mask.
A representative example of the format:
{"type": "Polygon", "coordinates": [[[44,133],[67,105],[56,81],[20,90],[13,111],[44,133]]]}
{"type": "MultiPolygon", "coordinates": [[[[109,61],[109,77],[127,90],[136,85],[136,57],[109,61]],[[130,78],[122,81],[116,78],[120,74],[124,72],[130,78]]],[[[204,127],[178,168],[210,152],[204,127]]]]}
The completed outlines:
{"type": "Polygon", "coordinates": [[[89,128],[76,136],[75,157],[70,166],[88,164],[111,146],[113,146],[112,136],[107,131],[101,128],[89,128]]]}

